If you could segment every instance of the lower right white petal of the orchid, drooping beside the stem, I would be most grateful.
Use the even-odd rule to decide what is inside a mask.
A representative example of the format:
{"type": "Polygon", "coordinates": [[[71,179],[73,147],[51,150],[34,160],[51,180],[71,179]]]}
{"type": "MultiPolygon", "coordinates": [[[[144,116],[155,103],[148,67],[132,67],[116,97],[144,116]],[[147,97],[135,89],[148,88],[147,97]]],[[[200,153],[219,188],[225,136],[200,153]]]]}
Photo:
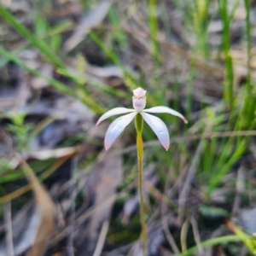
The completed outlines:
{"type": "Polygon", "coordinates": [[[159,138],[160,143],[163,145],[166,150],[170,147],[170,137],[169,132],[167,130],[166,124],[159,119],[158,117],[141,112],[143,119],[148,123],[148,125],[152,128],[155,135],[159,138]]]}

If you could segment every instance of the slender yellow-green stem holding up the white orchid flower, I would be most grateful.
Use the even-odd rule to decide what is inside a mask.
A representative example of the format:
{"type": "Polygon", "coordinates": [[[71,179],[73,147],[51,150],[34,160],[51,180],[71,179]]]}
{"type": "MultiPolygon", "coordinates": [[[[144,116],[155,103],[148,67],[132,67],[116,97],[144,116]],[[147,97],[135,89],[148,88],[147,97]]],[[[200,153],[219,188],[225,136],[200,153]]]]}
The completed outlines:
{"type": "Polygon", "coordinates": [[[147,226],[145,223],[145,211],[143,201],[143,117],[138,113],[135,117],[137,130],[137,166],[138,166],[138,189],[140,195],[140,218],[142,224],[142,247],[143,256],[146,256],[147,226]]]}

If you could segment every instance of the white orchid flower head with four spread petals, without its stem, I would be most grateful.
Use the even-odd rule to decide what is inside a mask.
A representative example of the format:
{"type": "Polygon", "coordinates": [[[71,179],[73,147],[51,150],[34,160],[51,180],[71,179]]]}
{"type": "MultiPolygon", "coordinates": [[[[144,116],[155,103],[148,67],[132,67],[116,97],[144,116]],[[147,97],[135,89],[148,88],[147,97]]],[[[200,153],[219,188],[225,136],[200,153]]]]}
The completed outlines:
{"type": "Polygon", "coordinates": [[[134,109],[113,108],[107,113],[104,113],[102,117],[97,121],[96,126],[99,125],[104,119],[108,119],[115,114],[128,113],[119,117],[118,119],[115,119],[113,123],[109,125],[104,142],[106,150],[111,147],[116,138],[119,137],[122,131],[125,130],[125,127],[131,123],[131,121],[138,113],[143,116],[143,119],[152,128],[155,135],[159,138],[160,143],[163,145],[164,148],[166,148],[166,150],[168,150],[168,148],[170,147],[170,137],[167,127],[161,119],[149,113],[171,113],[172,115],[183,119],[184,123],[188,123],[188,121],[183,117],[181,113],[178,113],[172,108],[159,106],[144,109],[146,107],[146,90],[143,90],[141,87],[133,90],[132,103],[134,109]]]}

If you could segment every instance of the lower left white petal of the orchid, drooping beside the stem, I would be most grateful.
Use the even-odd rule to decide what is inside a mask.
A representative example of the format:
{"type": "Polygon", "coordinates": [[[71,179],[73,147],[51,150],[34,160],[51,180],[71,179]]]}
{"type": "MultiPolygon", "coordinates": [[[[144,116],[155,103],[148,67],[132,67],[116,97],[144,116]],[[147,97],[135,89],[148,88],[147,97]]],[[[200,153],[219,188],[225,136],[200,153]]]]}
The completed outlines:
{"type": "Polygon", "coordinates": [[[108,150],[117,137],[125,130],[125,127],[131,123],[137,112],[125,114],[118,119],[115,119],[111,125],[108,127],[108,131],[105,137],[105,148],[108,150]]]}

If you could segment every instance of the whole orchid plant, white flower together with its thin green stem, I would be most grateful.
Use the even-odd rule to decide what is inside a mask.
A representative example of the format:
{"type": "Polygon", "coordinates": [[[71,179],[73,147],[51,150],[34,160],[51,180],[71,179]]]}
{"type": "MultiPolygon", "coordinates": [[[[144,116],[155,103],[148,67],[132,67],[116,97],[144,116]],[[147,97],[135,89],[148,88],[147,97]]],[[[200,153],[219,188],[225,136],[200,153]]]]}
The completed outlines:
{"type": "Polygon", "coordinates": [[[108,127],[108,131],[105,137],[105,148],[111,147],[113,142],[125,130],[125,127],[131,123],[135,118],[135,125],[137,130],[137,160],[138,160],[138,189],[140,195],[140,217],[142,223],[142,247],[143,247],[143,256],[146,256],[146,244],[147,244],[147,228],[145,224],[145,214],[143,207],[143,119],[148,123],[152,128],[155,135],[160,140],[160,143],[163,145],[166,150],[170,147],[170,137],[165,123],[149,113],[171,113],[181,119],[184,123],[188,121],[183,117],[181,113],[173,110],[172,108],[167,107],[154,107],[144,109],[146,107],[146,90],[143,90],[141,87],[133,90],[132,97],[133,108],[113,108],[107,113],[104,113],[102,117],[97,121],[96,125],[99,125],[102,120],[108,119],[110,116],[127,113],[118,119],[115,119],[111,125],[108,127]]]}

